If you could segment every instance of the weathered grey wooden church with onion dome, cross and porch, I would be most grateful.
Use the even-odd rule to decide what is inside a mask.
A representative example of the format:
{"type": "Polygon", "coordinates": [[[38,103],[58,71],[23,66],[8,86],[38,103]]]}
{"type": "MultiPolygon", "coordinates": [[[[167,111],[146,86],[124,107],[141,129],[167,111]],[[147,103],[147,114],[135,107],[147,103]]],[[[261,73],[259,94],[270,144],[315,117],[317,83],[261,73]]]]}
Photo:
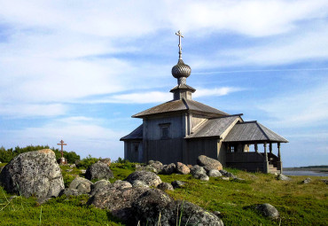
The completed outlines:
{"type": "Polygon", "coordinates": [[[132,162],[180,161],[194,165],[199,155],[206,155],[219,160],[223,167],[282,173],[280,144],[288,142],[284,137],[257,121],[244,121],[242,114],[224,113],[191,98],[196,91],[186,84],[191,67],[182,58],[183,36],[180,31],[176,35],[179,59],[172,68],[177,79],[176,87],[170,90],[173,99],[132,116],[143,119],[143,124],[121,137],[124,158],[132,162]],[[260,144],[264,152],[259,152],[260,144]],[[277,147],[277,154],[273,153],[273,146],[277,147]]]}

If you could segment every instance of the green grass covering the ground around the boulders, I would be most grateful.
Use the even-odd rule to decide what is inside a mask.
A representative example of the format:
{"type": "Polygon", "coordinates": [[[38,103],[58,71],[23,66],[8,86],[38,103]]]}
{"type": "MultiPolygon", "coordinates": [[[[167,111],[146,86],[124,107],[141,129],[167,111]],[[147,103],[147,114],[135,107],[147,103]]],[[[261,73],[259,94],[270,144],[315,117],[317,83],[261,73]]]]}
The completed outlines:
{"type": "MultiPolygon", "coordinates": [[[[116,179],[124,179],[135,171],[133,163],[113,163],[111,169],[116,179]]],[[[66,172],[61,167],[66,185],[80,169],[66,172]]],[[[310,176],[311,183],[300,182],[308,176],[291,176],[293,181],[277,181],[274,175],[246,173],[228,169],[245,181],[223,181],[210,178],[200,182],[191,175],[160,175],[163,182],[184,181],[183,189],[168,191],[174,199],[184,199],[208,211],[220,211],[224,225],[327,225],[328,190],[319,179],[310,176]],[[273,222],[257,214],[255,204],[269,203],[277,208],[281,222],[273,222]]],[[[108,211],[86,206],[88,197],[65,196],[38,205],[34,198],[11,198],[0,187],[0,225],[124,225],[108,211]]]]}

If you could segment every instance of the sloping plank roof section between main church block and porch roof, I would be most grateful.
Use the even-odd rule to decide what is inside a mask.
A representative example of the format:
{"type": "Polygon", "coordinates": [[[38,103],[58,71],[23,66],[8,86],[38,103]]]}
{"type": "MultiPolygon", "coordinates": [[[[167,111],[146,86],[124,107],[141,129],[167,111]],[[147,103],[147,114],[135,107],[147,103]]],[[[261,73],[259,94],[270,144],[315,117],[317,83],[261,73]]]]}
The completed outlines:
{"type": "Polygon", "coordinates": [[[231,115],[222,118],[209,119],[204,122],[203,125],[197,129],[197,131],[190,136],[186,137],[190,138],[200,138],[200,137],[211,137],[211,136],[222,136],[224,131],[228,129],[236,119],[240,118],[240,115],[231,115]]]}

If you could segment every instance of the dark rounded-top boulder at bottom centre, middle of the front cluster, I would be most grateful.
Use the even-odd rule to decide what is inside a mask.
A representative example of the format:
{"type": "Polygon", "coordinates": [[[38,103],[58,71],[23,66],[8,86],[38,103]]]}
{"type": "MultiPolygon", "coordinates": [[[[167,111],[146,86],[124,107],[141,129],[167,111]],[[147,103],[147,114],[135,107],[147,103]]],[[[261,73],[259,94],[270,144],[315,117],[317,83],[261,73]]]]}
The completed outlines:
{"type": "Polygon", "coordinates": [[[141,225],[175,225],[175,201],[159,189],[145,191],[132,203],[136,221],[141,225]]]}

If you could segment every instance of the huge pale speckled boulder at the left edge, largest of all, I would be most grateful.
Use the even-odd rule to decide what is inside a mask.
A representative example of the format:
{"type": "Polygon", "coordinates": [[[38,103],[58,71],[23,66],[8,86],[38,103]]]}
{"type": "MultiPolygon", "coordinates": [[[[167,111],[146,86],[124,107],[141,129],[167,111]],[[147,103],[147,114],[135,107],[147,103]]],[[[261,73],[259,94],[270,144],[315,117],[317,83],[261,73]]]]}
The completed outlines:
{"type": "Polygon", "coordinates": [[[0,182],[7,192],[39,200],[57,197],[65,188],[55,152],[50,149],[16,156],[2,170],[0,182]]]}

